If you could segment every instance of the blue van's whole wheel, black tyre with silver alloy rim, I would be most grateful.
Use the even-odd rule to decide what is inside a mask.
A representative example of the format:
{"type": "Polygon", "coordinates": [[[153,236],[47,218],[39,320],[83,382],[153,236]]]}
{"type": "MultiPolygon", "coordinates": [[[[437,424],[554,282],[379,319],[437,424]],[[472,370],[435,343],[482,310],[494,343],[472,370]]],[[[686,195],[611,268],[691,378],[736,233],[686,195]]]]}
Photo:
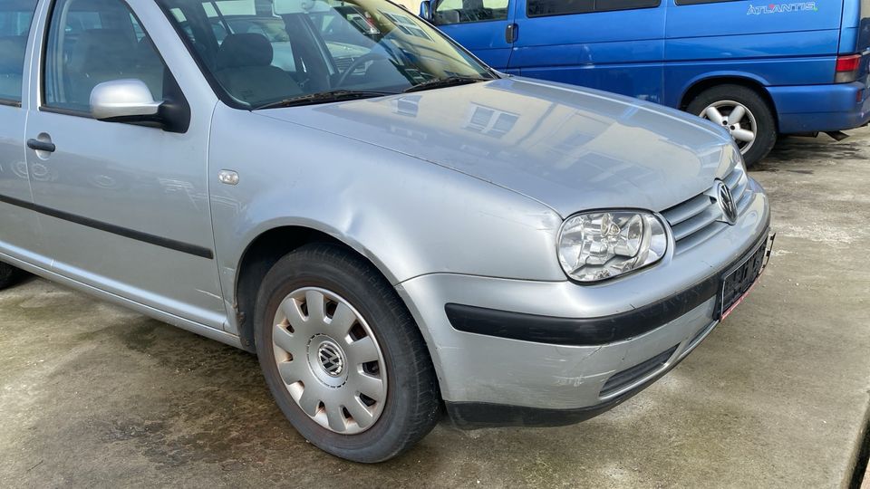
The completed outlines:
{"type": "Polygon", "coordinates": [[[776,120],[768,102],[747,87],[719,85],[702,91],[686,111],[728,129],[747,167],[768,156],[777,142],[776,120]]]}

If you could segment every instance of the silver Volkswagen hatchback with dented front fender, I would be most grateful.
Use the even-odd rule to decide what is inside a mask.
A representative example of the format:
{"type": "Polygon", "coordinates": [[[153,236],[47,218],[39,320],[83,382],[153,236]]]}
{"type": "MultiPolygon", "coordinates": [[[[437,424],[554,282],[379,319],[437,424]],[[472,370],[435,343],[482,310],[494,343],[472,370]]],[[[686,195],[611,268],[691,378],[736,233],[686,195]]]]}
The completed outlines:
{"type": "Polygon", "coordinates": [[[613,408],[768,255],[724,129],[493,72],[389,2],[5,0],[0,29],[0,286],[23,269],[256,352],[350,460],[445,410],[613,408]],[[245,15],[279,19],[294,62],[245,15]]]}

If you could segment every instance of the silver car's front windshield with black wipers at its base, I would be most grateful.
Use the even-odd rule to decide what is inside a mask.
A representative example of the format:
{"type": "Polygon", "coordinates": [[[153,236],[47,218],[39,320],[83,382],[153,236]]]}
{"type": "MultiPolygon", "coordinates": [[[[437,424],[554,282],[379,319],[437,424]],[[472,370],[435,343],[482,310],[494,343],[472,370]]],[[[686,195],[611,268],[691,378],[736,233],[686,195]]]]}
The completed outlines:
{"type": "Polygon", "coordinates": [[[495,77],[384,0],[159,0],[199,64],[239,108],[428,90],[495,77]]]}

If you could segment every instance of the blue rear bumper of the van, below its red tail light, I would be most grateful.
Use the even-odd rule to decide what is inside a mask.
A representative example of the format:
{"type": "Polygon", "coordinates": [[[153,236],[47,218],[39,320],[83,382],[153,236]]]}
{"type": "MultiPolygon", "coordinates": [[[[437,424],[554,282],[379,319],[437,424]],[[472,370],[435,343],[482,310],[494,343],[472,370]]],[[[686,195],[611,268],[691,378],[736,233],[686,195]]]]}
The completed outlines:
{"type": "Polygon", "coordinates": [[[855,129],[870,121],[870,87],[861,82],[768,87],[776,104],[779,132],[855,129]]]}

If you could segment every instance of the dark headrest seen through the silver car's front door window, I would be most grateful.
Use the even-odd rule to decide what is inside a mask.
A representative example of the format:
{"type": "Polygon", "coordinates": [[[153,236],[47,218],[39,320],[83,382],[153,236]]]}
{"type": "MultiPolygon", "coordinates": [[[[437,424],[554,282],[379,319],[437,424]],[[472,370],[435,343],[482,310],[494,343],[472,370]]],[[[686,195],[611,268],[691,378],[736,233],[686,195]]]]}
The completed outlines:
{"type": "Polygon", "coordinates": [[[77,72],[124,71],[132,65],[133,40],[118,29],[84,31],[73,45],[70,68],[77,72]]]}

